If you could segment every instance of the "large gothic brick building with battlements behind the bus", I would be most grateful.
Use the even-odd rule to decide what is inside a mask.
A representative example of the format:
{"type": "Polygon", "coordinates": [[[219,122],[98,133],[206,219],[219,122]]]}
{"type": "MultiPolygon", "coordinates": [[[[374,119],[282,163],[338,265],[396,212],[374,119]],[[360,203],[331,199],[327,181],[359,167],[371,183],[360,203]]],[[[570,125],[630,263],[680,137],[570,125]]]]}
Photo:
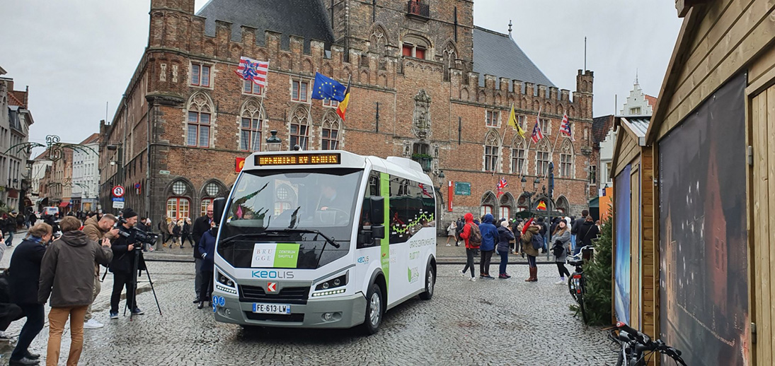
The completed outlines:
{"type": "Polygon", "coordinates": [[[560,210],[577,214],[597,192],[587,179],[597,164],[593,73],[578,71],[572,95],[560,90],[511,26],[509,34],[474,26],[473,2],[212,0],[195,15],[194,0],[151,0],[150,8],[146,51],[112,122],[100,126],[106,210],[122,183],[141,215],[196,217],[228,192],[237,158],[266,149],[270,130],[283,149],[417,159],[438,184],[443,221],[527,208],[520,172],[528,190],[538,176],[540,190],[549,161],[560,210]],[[270,60],[265,90],[234,74],[240,56],[270,60]],[[310,99],[315,71],[352,78],[346,121],[336,101],[310,99]],[[528,132],[541,111],[545,139],[529,145],[505,126],[512,104],[528,132]],[[563,111],[575,141],[560,136],[552,154],[563,111]],[[499,176],[509,186],[496,198],[499,176]],[[453,213],[449,181],[470,183],[470,195],[453,196],[453,213]]]}

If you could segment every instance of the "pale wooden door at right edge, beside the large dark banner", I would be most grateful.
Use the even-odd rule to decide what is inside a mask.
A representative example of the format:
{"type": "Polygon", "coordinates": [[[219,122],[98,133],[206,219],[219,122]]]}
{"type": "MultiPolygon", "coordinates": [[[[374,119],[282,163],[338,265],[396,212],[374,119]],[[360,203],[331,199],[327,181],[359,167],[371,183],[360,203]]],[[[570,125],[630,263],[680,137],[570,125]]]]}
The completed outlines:
{"type": "Polygon", "coordinates": [[[753,253],[749,255],[749,286],[753,293],[753,344],[756,364],[770,365],[775,350],[775,86],[753,97],[749,141],[753,145],[753,169],[750,170],[753,194],[753,253]]]}

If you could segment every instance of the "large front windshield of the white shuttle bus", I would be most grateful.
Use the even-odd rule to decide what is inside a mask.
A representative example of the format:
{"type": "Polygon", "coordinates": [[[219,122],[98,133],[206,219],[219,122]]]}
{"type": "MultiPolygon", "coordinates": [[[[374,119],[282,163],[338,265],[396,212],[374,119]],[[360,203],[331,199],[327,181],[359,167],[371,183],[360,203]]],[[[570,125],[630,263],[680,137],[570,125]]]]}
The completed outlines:
{"type": "Polygon", "coordinates": [[[219,254],[236,268],[254,267],[257,243],[299,246],[298,262],[315,269],[350,249],[363,169],[244,171],[224,210],[219,254]]]}

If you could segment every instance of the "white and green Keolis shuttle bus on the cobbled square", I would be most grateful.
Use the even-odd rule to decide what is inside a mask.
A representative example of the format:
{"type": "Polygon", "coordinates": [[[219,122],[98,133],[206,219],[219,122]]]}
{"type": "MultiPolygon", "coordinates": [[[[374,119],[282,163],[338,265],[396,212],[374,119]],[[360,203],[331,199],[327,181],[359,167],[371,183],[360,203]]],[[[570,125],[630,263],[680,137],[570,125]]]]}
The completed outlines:
{"type": "Polygon", "coordinates": [[[257,152],[215,200],[215,319],[374,334],[436,283],[436,197],[418,162],[257,152]]]}

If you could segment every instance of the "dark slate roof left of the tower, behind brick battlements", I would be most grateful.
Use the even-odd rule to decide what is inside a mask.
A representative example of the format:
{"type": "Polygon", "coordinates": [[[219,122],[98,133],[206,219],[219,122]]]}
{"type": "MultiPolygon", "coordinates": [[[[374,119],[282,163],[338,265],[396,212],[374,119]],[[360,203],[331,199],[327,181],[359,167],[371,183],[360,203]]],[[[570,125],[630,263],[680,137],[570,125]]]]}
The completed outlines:
{"type": "MultiPolygon", "coordinates": [[[[196,14],[205,18],[205,35],[215,36],[215,21],[230,22],[233,29],[249,26],[259,29],[256,40],[266,45],[264,29],[282,34],[281,48],[288,50],[289,36],[305,39],[304,52],[310,52],[310,39],[318,39],[329,47],[334,40],[329,17],[319,0],[210,0],[196,14]]],[[[240,41],[239,32],[232,32],[233,41],[240,41]]]]}

